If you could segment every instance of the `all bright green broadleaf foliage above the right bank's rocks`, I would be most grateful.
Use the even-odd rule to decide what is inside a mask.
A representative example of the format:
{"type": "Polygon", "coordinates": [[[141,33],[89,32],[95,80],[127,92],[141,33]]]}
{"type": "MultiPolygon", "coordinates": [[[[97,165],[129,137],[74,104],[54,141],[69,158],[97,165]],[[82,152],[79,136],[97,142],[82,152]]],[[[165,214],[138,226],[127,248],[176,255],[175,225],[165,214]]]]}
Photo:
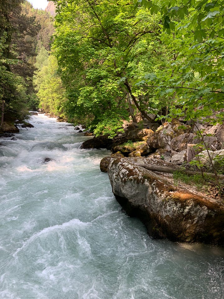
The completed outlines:
{"type": "Polygon", "coordinates": [[[223,1],[54,2],[70,120],[110,136],[138,113],[222,121],[223,1]]]}

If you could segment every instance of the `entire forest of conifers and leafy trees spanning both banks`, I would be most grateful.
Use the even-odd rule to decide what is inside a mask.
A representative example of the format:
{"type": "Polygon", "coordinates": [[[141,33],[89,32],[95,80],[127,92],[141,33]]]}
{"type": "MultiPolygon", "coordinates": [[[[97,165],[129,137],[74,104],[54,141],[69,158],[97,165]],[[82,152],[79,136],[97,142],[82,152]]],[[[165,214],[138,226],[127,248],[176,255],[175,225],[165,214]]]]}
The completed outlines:
{"type": "Polygon", "coordinates": [[[37,108],[109,137],[130,118],[222,121],[223,1],[53,2],[54,20],[1,2],[1,126],[37,108]]]}

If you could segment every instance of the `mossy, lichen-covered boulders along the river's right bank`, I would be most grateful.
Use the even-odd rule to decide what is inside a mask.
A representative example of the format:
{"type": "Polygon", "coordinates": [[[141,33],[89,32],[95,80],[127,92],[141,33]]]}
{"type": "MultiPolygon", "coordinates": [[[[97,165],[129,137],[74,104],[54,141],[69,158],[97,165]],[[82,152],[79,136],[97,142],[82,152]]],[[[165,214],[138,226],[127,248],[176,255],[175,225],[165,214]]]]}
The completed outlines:
{"type": "MultiPolygon", "coordinates": [[[[203,141],[213,157],[224,154],[223,125],[203,128],[203,141]],[[213,153],[213,154],[212,154],[213,153]]],[[[108,172],[113,193],[130,216],[145,223],[150,236],[179,242],[224,245],[224,201],[222,196],[207,196],[194,187],[174,184],[173,175],[150,171],[136,164],[183,165],[203,150],[193,127],[172,121],[155,131],[130,125],[113,140],[93,138],[82,146],[106,147],[112,155],[102,159],[101,171],[108,172]],[[100,142],[103,141],[103,142],[100,142]],[[172,163],[170,163],[172,162],[172,163]]],[[[202,154],[205,152],[202,151],[202,154]]],[[[211,163],[204,156],[204,170],[211,163]]],[[[220,182],[222,190],[223,181],[220,182]]]]}

